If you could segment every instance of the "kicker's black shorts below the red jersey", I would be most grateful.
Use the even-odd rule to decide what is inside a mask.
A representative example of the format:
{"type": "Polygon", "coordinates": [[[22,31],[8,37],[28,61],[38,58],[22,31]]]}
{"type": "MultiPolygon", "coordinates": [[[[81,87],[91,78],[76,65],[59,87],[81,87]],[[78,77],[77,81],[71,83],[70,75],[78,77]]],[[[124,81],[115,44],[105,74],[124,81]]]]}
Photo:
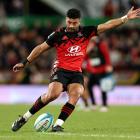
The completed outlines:
{"type": "Polygon", "coordinates": [[[63,84],[64,90],[67,90],[67,86],[72,83],[79,83],[84,86],[84,78],[81,72],[75,72],[65,69],[57,69],[50,77],[51,82],[60,82],[63,84]]]}

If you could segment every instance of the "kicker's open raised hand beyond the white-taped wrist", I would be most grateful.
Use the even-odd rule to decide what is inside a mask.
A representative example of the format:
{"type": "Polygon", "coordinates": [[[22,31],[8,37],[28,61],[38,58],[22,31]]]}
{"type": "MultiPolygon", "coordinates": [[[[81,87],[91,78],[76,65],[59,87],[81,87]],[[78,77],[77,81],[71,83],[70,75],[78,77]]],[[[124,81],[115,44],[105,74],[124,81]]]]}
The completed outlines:
{"type": "Polygon", "coordinates": [[[135,19],[140,18],[140,8],[134,10],[134,7],[132,7],[128,13],[127,13],[128,19],[135,19]]]}

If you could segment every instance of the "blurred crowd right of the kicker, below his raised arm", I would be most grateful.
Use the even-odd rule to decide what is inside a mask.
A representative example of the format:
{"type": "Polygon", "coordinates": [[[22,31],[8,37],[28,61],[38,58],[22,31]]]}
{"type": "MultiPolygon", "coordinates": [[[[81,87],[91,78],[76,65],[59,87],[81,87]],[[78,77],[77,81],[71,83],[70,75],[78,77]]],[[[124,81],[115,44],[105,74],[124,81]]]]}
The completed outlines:
{"type": "Polygon", "coordinates": [[[134,27],[121,28],[107,34],[113,66],[140,70],[139,37],[140,28],[134,27]]]}

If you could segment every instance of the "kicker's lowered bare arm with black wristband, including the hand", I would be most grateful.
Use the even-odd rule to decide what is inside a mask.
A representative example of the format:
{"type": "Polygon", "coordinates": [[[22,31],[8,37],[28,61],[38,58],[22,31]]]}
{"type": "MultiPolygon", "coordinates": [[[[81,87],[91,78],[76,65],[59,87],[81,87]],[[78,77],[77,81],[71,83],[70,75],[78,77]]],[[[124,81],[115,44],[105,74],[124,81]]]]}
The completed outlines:
{"type": "Polygon", "coordinates": [[[18,63],[13,67],[13,71],[18,72],[22,70],[27,63],[31,63],[33,60],[35,60],[40,54],[42,54],[47,49],[49,49],[49,45],[46,42],[36,46],[23,62],[18,63]]]}

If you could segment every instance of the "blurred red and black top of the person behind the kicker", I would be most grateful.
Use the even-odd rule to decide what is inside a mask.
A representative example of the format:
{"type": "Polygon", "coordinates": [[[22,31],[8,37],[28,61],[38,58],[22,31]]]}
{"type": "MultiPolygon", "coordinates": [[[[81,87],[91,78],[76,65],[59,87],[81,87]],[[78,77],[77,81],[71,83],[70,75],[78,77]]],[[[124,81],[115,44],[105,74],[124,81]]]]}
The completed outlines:
{"type": "Polygon", "coordinates": [[[85,57],[85,69],[93,74],[106,73],[106,66],[111,66],[108,45],[105,41],[94,42],[94,46],[85,57]]]}

